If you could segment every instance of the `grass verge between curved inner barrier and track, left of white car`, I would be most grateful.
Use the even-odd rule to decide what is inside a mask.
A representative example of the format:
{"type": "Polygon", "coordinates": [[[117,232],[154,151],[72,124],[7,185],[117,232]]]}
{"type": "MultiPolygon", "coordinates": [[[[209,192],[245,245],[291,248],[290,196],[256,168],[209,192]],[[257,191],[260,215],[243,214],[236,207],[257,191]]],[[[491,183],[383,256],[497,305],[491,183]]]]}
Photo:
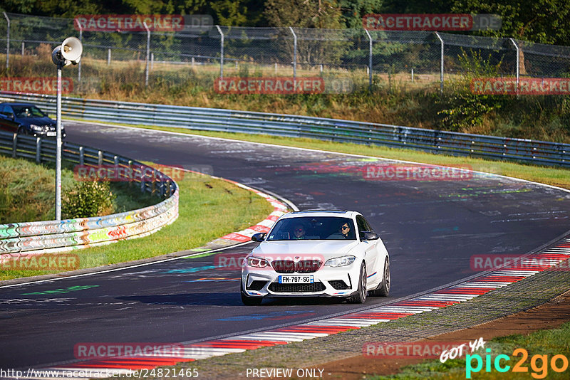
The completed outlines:
{"type": "MultiPolygon", "coordinates": [[[[187,250],[251,226],[265,218],[272,206],[252,191],[220,179],[187,174],[180,186],[179,216],[175,223],[145,238],[75,250],[80,268],[123,263],[187,250]]],[[[0,280],[46,275],[55,271],[0,270],[0,280]]]]}

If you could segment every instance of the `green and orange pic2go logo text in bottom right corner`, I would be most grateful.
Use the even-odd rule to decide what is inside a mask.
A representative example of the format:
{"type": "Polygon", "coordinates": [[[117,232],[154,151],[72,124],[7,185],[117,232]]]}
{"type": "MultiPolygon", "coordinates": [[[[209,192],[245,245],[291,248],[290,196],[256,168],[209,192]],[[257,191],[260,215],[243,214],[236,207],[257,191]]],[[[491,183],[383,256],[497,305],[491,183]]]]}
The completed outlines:
{"type": "MultiPolygon", "coordinates": [[[[465,378],[471,379],[471,375],[473,373],[477,373],[483,369],[483,364],[485,366],[485,371],[490,372],[491,366],[494,367],[495,370],[498,372],[507,372],[511,369],[511,366],[507,364],[507,361],[511,361],[511,357],[505,354],[499,354],[494,357],[494,360],[491,358],[491,349],[485,349],[487,354],[485,355],[485,359],[479,354],[467,354],[465,357],[465,378]]],[[[527,366],[523,366],[524,362],[527,361],[529,357],[529,352],[526,349],[518,348],[512,352],[513,357],[521,356],[517,364],[512,366],[513,372],[522,372],[528,373],[529,368],[527,366]]],[[[533,355],[530,359],[530,369],[532,369],[531,376],[534,379],[544,379],[548,376],[548,368],[551,367],[552,371],[554,372],[564,372],[568,369],[568,358],[564,355],[558,354],[554,355],[549,361],[548,355],[533,355]]]]}

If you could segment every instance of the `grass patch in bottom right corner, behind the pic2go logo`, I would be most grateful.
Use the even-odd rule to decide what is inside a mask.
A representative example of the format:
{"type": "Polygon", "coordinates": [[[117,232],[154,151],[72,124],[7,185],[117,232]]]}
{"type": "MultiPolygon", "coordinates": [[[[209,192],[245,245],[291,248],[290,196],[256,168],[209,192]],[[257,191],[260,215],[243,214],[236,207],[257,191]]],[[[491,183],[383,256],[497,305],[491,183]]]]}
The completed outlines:
{"type": "MultiPolygon", "coordinates": [[[[485,368],[486,353],[478,352],[482,357],[482,369],[471,371],[467,376],[465,359],[448,359],[445,363],[439,360],[425,361],[421,364],[405,366],[400,373],[390,376],[366,376],[366,379],[568,379],[568,358],[570,358],[570,322],[566,322],[556,329],[544,329],[528,335],[509,335],[507,337],[497,337],[485,344],[485,348],[491,349],[489,353],[490,371],[485,368]],[[525,349],[528,357],[525,359],[522,354],[514,355],[515,349],[525,349]],[[509,361],[503,357],[500,361],[502,367],[510,366],[508,371],[499,372],[494,368],[494,361],[497,355],[507,355],[509,361]],[[535,355],[544,359],[535,358],[535,355]],[[556,372],[552,369],[551,360],[555,355],[562,355],[556,360],[556,366],[562,368],[566,362],[566,369],[556,372]],[[522,359],[525,359],[524,361],[522,359]],[[523,372],[515,373],[513,367],[521,361],[523,372]],[[534,365],[533,365],[534,364],[534,365]]],[[[470,368],[477,368],[477,359],[470,359],[470,368]]]]}

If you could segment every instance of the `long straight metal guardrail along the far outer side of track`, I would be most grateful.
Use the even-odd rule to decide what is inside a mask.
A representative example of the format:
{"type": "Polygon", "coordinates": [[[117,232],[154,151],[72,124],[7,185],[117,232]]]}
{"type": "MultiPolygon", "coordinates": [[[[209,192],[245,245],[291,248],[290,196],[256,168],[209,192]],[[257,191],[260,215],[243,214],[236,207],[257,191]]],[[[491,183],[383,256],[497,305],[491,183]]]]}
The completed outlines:
{"type": "MultiPolygon", "coordinates": [[[[53,95],[0,93],[1,101],[29,101],[55,113],[53,95]]],[[[322,117],[279,115],[214,108],[63,98],[63,116],[132,125],[190,130],[311,137],[336,142],[380,144],[432,153],[484,157],[570,167],[570,144],[399,127],[322,117]]]]}

